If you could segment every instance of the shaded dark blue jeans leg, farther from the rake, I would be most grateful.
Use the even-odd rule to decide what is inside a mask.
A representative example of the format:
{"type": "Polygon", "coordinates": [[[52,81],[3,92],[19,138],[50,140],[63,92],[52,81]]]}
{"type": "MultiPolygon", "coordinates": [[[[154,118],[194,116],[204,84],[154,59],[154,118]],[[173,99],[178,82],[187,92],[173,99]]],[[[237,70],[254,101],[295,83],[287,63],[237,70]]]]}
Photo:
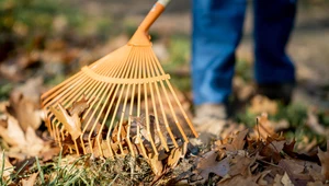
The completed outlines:
{"type": "Polygon", "coordinates": [[[293,84],[295,68],[285,47],[295,21],[296,0],[254,0],[253,2],[256,81],[265,86],[293,84]]]}

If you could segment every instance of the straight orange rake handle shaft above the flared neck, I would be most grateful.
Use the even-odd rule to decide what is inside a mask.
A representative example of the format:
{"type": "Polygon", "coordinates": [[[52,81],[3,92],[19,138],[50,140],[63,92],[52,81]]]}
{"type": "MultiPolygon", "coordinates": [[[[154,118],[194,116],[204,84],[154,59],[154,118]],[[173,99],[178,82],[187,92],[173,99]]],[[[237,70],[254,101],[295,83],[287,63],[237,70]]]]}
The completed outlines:
{"type": "Polygon", "coordinates": [[[138,30],[147,33],[149,27],[154,24],[154,22],[160,16],[160,14],[164,11],[164,8],[170,2],[170,0],[158,0],[149,13],[146,15],[144,21],[140,23],[138,30]]]}

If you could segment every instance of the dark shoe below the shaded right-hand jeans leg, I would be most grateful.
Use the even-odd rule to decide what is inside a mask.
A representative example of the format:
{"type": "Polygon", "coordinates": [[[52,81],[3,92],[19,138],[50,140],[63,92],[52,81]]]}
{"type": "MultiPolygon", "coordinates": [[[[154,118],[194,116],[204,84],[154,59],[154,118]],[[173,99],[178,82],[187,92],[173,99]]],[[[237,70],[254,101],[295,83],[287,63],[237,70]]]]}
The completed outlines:
{"type": "Polygon", "coordinates": [[[288,105],[292,101],[294,88],[294,83],[258,84],[257,93],[264,95],[271,100],[279,100],[284,105],[288,105]]]}

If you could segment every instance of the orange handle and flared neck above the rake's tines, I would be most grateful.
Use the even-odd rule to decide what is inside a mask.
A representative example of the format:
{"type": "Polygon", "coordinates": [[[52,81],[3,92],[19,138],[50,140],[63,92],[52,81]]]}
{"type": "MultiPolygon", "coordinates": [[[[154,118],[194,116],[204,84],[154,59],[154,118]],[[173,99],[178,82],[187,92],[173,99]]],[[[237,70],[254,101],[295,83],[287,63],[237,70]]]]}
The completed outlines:
{"type": "Polygon", "coordinates": [[[146,15],[144,21],[140,23],[137,31],[128,42],[128,45],[137,45],[137,46],[151,45],[148,30],[155,23],[155,21],[160,16],[160,14],[164,11],[164,8],[168,4],[168,2],[169,0],[158,0],[158,2],[155,3],[152,9],[146,15]]]}

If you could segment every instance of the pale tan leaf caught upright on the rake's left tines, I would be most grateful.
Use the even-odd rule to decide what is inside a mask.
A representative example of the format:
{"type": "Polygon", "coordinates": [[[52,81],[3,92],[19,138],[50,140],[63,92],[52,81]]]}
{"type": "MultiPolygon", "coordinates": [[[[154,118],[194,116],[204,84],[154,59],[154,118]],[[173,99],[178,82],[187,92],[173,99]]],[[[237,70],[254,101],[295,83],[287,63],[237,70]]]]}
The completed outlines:
{"type": "Polygon", "coordinates": [[[71,135],[71,138],[75,141],[80,137],[80,135],[82,135],[80,117],[78,116],[78,113],[75,113],[72,116],[70,116],[67,111],[60,105],[60,103],[58,103],[57,106],[59,107],[59,111],[54,108],[53,106],[50,106],[49,109],[64,125],[65,129],[71,135]]]}

